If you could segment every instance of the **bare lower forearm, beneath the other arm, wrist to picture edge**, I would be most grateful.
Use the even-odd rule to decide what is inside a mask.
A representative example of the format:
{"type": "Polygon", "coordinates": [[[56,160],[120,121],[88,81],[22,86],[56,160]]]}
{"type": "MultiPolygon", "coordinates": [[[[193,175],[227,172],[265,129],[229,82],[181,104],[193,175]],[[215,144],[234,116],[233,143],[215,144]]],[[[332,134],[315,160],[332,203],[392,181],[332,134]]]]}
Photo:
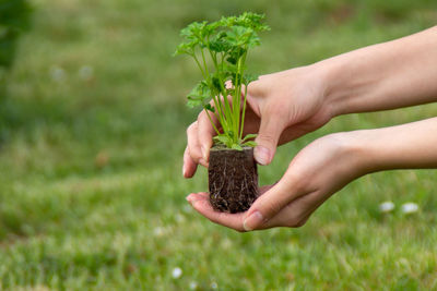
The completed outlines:
{"type": "Polygon", "coordinates": [[[346,135],[364,173],[437,168],[437,118],[346,135]]]}

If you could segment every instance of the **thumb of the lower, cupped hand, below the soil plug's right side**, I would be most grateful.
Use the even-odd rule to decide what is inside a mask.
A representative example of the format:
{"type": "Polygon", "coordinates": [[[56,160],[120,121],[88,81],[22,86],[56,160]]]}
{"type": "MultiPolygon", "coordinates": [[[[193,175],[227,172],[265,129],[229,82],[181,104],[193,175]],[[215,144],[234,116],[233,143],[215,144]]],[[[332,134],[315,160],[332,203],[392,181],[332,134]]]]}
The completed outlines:
{"type": "Polygon", "coordinates": [[[262,228],[265,222],[288,205],[293,198],[295,197],[292,195],[290,186],[286,186],[284,180],[281,180],[255,201],[247,211],[243,228],[246,231],[262,228]]]}

